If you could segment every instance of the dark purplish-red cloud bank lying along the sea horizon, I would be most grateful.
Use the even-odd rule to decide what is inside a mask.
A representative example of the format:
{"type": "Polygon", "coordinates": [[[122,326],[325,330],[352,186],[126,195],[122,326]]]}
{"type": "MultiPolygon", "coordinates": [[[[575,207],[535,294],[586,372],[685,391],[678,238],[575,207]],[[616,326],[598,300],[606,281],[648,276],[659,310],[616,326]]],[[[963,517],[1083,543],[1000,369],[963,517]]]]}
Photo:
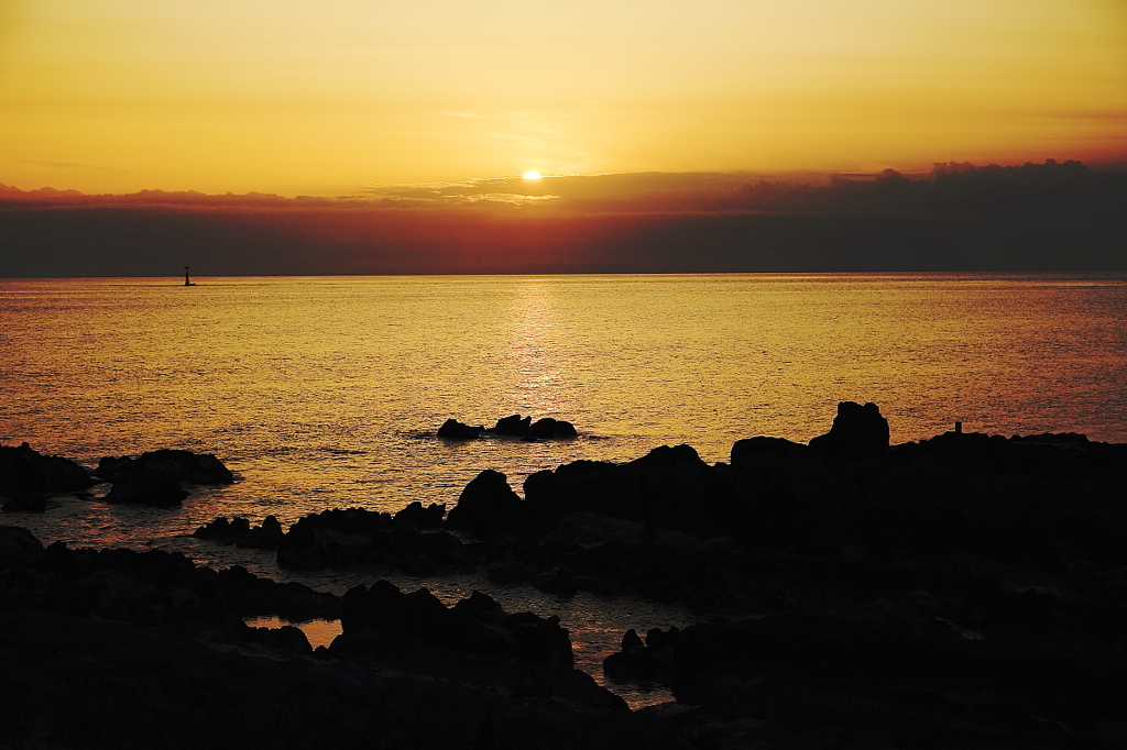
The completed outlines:
{"type": "Polygon", "coordinates": [[[1127,268],[1127,178],[1079,162],[767,180],[641,173],[339,198],[0,186],[0,276],[1127,268]]]}

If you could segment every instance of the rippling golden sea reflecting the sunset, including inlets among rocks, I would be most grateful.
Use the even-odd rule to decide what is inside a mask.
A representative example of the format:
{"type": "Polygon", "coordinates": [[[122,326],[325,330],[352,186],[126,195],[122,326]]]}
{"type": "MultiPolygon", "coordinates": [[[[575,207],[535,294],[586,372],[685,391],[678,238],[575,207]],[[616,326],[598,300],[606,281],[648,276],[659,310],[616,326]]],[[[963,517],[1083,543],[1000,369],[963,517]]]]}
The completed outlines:
{"type": "MultiPolygon", "coordinates": [[[[331,508],[452,507],[486,468],[521,492],[533,472],[660,445],[724,462],[740,438],[825,432],[841,401],[878,404],[893,443],[956,421],[1127,443],[1125,383],[1127,273],[0,279],[0,443],[88,467],[187,448],[239,480],[189,488],[179,509],[110,507],[99,486],[0,523],[339,593],[373,572],[291,573],[190,534],[219,516],[287,526],[331,508]],[[449,418],[488,427],[514,413],[570,421],[579,437],[435,436],[449,418]]],[[[627,628],[709,616],[480,575],[379,577],[558,615],[600,681],[627,628]]],[[[607,685],[632,705],[668,697],[607,685]]]]}

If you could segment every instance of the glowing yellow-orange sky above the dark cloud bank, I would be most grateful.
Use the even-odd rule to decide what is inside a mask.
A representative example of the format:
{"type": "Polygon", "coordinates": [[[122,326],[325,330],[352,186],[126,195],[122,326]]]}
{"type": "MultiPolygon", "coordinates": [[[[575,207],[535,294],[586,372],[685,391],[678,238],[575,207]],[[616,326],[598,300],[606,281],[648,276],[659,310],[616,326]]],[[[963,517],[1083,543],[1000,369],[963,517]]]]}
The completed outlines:
{"type": "Polygon", "coordinates": [[[1124,0],[0,0],[0,182],[1127,158],[1124,0]]]}

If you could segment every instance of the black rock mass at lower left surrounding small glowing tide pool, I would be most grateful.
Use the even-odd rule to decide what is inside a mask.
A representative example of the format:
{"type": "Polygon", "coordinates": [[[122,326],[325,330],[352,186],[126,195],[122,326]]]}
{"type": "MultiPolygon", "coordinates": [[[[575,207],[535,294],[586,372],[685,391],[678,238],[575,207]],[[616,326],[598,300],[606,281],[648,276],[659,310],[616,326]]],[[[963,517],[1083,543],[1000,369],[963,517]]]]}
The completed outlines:
{"type": "Polygon", "coordinates": [[[6,747],[689,748],[569,668],[558,620],[388,583],[344,600],[0,527],[6,747]],[[316,654],[242,617],[344,615],[316,654]],[[311,655],[316,658],[310,658],[311,655]]]}

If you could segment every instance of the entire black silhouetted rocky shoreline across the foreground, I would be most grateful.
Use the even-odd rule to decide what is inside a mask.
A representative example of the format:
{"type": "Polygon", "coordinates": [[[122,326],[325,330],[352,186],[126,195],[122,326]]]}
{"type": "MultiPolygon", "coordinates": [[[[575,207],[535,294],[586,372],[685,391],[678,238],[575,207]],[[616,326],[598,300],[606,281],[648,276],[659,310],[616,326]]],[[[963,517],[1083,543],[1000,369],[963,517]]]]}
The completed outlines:
{"type": "MultiPolygon", "coordinates": [[[[606,673],[677,699],[636,712],[573,669],[566,622],[481,593],[335,597],[0,527],[0,748],[1124,747],[1127,446],[888,436],[845,402],[808,445],[749,438],[715,465],[663,446],[539,472],[523,497],[482,472],[449,511],[196,532],[293,570],[485,571],[722,613],[623,634],[606,673]],[[258,615],[344,632],[313,650],[243,623],[258,615]]],[[[0,452],[0,494],[72,473],[43,457],[18,477],[28,450],[0,452]]],[[[184,471],[168,458],[139,473],[184,471]]],[[[221,481],[204,463],[192,481],[221,481]]]]}

